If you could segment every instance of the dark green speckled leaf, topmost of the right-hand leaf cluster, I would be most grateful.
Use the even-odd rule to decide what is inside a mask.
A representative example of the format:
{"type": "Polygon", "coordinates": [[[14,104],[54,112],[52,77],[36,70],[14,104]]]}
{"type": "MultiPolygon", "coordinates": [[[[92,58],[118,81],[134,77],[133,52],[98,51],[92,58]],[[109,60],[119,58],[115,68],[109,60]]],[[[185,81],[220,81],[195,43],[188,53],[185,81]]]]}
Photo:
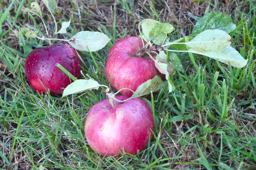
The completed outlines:
{"type": "Polygon", "coordinates": [[[221,12],[210,12],[198,20],[192,31],[192,35],[199,34],[207,29],[222,29],[223,31],[230,33],[235,28],[233,20],[229,15],[221,12]]]}

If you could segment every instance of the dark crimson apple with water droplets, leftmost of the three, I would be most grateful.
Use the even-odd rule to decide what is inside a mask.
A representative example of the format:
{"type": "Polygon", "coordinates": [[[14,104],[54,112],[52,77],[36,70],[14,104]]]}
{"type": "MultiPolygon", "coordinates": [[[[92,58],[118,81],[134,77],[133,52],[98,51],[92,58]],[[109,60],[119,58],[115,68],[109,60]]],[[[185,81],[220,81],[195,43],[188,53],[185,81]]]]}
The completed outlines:
{"type": "Polygon", "coordinates": [[[55,65],[56,63],[61,64],[77,79],[81,79],[79,65],[82,65],[82,62],[76,50],[67,42],[36,48],[29,53],[25,63],[26,77],[35,91],[45,94],[46,88],[50,90],[51,95],[60,95],[64,90],[62,88],[71,83],[70,78],[55,65]]]}

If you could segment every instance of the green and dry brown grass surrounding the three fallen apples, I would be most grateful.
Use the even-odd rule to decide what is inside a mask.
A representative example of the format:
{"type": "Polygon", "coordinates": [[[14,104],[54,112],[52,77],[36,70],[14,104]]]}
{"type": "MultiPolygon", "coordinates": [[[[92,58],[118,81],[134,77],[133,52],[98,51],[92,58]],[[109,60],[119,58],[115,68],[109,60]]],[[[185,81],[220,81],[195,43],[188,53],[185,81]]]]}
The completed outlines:
{"type": "MultiPolygon", "coordinates": [[[[84,139],[86,114],[105,99],[103,89],[61,99],[29,87],[26,56],[47,45],[19,34],[24,26],[40,36],[45,33],[38,17],[23,12],[31,2],[3,0],[0,5],[0,168],[256,169],[255,1],[59,1],[56,20],[69,20],[71,14],[76,20],[70,35],[100,30],[112,38],[104,49],[82,58],[84,75],[104,85],[109,49],[118,39],[137,36],[137,24],[144,18],[172,23],[172,40],[189,35],[198,17],[211,11],[230,14],[237,26],[232,46],[248,64],[240,69],[179,53],[184,73],[176,71],[172,77],[175,91],[168,94],[165,87],[152,96],[157,123],[153,139],[137,155],[121,157],[100,156],[84,139]]],[[[43,3],[41,9],[50,26],[53,20],[43,3]]]]}

